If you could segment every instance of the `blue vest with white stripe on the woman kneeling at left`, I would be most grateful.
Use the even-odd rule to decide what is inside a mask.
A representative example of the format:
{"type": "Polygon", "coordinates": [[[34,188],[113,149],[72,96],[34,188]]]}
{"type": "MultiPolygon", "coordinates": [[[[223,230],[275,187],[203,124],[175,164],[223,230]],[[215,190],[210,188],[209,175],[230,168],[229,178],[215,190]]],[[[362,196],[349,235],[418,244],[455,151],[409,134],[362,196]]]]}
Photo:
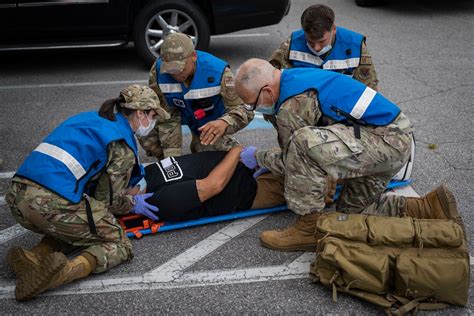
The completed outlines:
{"type": "Polygon", "coordinates": [[[84,112],[67,119],[33,150],[16,175],[79,203],[89,180],[107,163],[107,146],[124,140],[135,153],[129,185],[136,185],[144,176],[137,143],[127,119],[119,113],[116,117],[110,121],[97,112],[84,112]]]}

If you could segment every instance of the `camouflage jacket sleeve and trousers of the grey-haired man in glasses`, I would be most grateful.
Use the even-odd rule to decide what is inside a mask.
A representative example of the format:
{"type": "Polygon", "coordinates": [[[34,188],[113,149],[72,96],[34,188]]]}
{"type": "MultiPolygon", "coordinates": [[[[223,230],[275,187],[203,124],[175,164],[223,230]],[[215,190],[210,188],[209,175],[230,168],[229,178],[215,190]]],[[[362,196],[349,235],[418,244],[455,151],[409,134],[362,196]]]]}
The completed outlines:
{"type": "MultiPolygon", "coordinates": [[[[317,126],[321,114],[314,91],[284,102],[274,121],[280,148],[257,151],[258,164],[285,175],[285,199],[299,215],[325,207],[328,177],[344,182],[337,209],[361,212],[378,201],[408,160],[410,121],[400,113],[386,127],[361,126],[361,138],[356,139],[351,126],[331,122],[317,126]]],[[[398,202],[389,199],[389,203],[398,202]]]]}

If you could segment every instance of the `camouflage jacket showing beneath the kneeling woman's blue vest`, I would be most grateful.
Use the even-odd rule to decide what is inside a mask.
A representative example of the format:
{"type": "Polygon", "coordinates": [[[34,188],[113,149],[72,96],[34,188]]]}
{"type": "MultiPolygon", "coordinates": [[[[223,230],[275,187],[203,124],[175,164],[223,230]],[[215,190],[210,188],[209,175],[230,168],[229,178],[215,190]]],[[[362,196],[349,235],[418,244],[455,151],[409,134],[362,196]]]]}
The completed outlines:
{"type": "MultiPolygon", "coordinates": [[[[91,182],[97,181],[95,192],[94,194],[91,194],[91,197],[103,202],[108,210],[115,215],[127,214],[132,209],[133,197],[127,195],[125,190],[130,181],[134,163],[135,154],[128,145],[124,141],[113,142],[108,147],[108,160],[105,170],[90,180],[91,182]],[[109,205],[110,189],[112,189],[111,205],[109,205]]],[[[57,194],[47,190],[46,188],[39,187],[36,183],[30,180],[21,177],[14,177],[12,181],[38,187],[40,193],[41,191],[44,191],[44,194],[41,195],[50,196],[51,200],[64,200],[57,194]]]]}

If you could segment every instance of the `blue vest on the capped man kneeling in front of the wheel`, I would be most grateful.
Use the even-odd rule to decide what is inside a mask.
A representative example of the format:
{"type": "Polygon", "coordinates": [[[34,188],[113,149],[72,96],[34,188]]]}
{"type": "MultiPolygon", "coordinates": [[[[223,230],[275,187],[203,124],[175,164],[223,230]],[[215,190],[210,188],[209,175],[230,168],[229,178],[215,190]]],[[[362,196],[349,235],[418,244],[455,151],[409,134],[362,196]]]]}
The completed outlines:
{"type": "Polygon", "coordinates": [[[191,85],[173,79],[167,73],[160,73],[161,58],[156,62],[157,81],[169,106],[181,112],[181,124],[188,125],[194,134],[207,122],[218,119],[225,112],[222,101],[221,80],[229,65],[205,52],[197,52],[196,69],[191,85]]]}

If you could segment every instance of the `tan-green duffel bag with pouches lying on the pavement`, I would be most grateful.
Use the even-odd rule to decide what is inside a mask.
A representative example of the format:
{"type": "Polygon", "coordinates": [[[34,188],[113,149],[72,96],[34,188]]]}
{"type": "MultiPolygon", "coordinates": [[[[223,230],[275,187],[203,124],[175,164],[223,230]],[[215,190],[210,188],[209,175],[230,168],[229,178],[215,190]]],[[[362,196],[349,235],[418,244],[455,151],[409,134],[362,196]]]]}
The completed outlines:
{"type": "Polygon", "coordinates": [[[310,273],[316,282],[393,314],[466,305],[469,254],[452,220],[325,213],[310,273]]]}

